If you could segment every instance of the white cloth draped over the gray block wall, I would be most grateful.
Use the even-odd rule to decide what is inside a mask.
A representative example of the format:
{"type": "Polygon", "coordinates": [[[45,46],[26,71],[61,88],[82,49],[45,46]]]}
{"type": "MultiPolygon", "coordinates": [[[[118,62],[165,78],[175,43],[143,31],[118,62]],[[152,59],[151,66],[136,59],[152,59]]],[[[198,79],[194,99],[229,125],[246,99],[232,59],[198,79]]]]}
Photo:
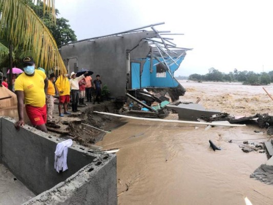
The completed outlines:
{"type": "Polygon", "coordinates": [[[55,151],[54,169],[59,173],[61,170],[64,172],[67,167],[67,153],[68,148],[73,144],[72,139],[62,141],[57,144],[55,151]]]}

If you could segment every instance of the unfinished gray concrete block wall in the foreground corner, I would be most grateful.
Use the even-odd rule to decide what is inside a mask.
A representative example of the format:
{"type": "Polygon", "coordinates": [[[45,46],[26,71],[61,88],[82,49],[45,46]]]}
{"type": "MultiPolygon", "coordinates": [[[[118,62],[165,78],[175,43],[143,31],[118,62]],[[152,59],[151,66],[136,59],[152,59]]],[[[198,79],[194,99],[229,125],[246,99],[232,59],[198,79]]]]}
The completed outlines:
{"type": "Polygon", "coordinates": [[[54,152],[62,139],[27,125],[16,131],[14,122],[0,118],[1,161],[27,188],[40,194],[26,204],[117,204],[115,155],[73,142],[68,170],[59,174],[54,170],[54,152]]]}

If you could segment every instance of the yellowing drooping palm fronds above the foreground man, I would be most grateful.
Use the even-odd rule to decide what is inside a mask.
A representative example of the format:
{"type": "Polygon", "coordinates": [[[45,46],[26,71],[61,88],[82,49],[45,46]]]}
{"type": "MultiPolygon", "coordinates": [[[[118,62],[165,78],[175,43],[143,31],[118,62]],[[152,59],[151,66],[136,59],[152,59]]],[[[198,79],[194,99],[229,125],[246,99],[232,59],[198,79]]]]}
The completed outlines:
{"type": "MultiPolygon", "coordinates": [[[[29,6],[32,2],[39,4],[40,0],[0,0],[0,56],[6,56],[9,51],[1,43],[5,40],[15,49],[23,48],[22,55],[31,55],[36,67],[55,68],[66,73],[55,39],[29,6]]],[[[54,0],[44,0],[44,12],[45,9],[55,20],[54,0]]]]}

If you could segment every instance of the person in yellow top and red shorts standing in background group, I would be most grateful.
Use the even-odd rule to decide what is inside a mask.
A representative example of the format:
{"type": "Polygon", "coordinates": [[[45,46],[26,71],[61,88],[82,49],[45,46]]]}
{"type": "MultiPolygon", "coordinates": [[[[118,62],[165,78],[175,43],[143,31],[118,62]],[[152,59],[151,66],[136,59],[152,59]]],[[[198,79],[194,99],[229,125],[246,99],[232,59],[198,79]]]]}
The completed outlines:
{"type": "Polygon", "coordinates": [[[63,73],[57,78],[55,82],[55,88],[59,94],[59,116],[64,117],[64,114],[70,115],[71,113],[67,111],[67,105],[70,101],[70,85],[69,80],[66,77],[66,73],[63,73]],[[62,105],[64,105],[64,114],[61,113],[62,105]]]}

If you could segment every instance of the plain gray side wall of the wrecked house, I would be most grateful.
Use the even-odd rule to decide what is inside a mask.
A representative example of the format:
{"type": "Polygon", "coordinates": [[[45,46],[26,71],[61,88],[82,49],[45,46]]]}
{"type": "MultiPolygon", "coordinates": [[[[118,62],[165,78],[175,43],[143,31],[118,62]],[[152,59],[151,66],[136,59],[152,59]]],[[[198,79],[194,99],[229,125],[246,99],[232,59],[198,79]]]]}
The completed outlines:
{"type": "Polygon", "coordinates": [[[127,52],[131,59],[145,58],[150,52],[147,42],[141,42],[146,37],[155,37],[153,31],[143,31],[120,36],[94,38],[61,47],[61,56],[69,74],[74,71],[75,59],[78,69],[89,69],[91,76],[100,75],[102,84],[108,85],[111,96],[124,96],[127,80],[127,52]],[[69,60],[73,59],[73,60],[69,60]],[[71,62],[71,63],[70,63],[71,62]]]}

